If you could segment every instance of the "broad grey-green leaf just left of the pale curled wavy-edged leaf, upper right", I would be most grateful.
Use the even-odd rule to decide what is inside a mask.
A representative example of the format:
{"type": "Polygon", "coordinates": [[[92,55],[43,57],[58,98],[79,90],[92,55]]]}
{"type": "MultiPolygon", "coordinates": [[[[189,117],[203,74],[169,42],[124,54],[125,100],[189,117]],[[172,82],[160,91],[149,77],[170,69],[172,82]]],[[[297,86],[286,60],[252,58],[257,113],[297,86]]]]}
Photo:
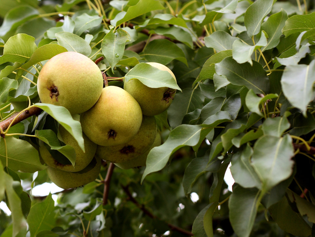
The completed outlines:
{"type": "Polygon", "coordinates": [[[211,35],[204,37],[204,42],[208,48],[214,48],[217,52],[232,49],[233,42],[237,40],[225,31],[217,30],[211,35]]]}

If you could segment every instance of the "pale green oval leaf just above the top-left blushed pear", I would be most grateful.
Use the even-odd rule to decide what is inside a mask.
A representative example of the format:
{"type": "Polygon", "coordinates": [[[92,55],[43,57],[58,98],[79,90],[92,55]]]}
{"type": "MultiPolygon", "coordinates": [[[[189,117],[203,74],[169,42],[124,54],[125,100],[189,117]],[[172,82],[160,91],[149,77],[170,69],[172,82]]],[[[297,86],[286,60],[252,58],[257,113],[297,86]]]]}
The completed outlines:
{"type": "Polygon", "coordinates": [[[65,31],[56,33],[55,35],[58,43],[66,48],[67,51],[81,53],[85,56],[91,54],[92,50],[89,43],[80,36],[65,31]]]}

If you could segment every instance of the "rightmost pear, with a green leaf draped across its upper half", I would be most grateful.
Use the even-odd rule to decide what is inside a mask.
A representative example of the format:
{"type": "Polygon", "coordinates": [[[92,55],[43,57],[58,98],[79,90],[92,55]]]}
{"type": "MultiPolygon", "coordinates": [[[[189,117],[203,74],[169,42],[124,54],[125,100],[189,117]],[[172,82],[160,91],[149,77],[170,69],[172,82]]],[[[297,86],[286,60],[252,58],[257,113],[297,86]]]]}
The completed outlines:
{"type": "MultiPolygon", "coordinates": [[[[147,64],[169,72],[176,81],[174,73],[163,64],[157,62],[147,62],[147,64]]],[[[168,87],[150,88],[138,79],[132,79],[124,83],[123,89],[128,91],[138,101],[142,114],[147,116],[158,115],[167,110],[176,92],[175,89],[168,87]]]]}

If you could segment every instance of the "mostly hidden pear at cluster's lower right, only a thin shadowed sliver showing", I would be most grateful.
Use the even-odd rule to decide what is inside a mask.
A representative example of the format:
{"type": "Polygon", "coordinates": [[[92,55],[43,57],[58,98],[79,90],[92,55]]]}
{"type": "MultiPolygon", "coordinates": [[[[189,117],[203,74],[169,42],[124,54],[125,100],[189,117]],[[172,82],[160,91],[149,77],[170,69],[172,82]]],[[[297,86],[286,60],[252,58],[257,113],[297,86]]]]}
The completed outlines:
{"type": "Polygon", "coordinates": [[[154,139],[154,142],[152,143],[151,147],[144,153],[139,155],[138,157],[135,157],[134,159],[127,160],[121,163],[114,163],[116,166],[123,170],[128,170],[131,168],[139,168],[141,166],[146,166],[146,158],[151,151],[153,147],[157,147],[161,145],[161,135],[159,132],[157,132],[157,135],[154,139]]]}

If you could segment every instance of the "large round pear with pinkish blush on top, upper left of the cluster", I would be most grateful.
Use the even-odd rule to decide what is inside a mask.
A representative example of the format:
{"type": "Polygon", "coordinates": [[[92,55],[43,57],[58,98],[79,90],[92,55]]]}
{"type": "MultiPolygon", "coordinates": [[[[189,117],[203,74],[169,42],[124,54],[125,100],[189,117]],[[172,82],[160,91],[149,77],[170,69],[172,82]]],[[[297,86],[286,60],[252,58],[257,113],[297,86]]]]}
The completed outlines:
{"type": "Polygon", "coordinates": [[[89,110],[103,89],[99,67],[77,52],[63,52],[49,59],[38,75],[37,90],[42,103],[61,105],[71,114],[89,110]]]}

